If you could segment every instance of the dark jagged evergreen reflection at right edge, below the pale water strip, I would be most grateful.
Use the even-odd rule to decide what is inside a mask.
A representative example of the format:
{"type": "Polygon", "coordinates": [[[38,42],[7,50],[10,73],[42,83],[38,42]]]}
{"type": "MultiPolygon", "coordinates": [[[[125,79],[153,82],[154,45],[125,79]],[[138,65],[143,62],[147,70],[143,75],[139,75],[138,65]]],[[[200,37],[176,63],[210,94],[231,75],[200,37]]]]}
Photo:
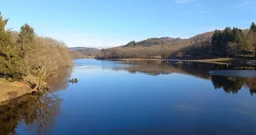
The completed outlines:
{"type": "Polygon", "coordinates": [[[256,94],[255,78],[212,76],[212,84],[215,89],[223,88],[228,94],[236,94],[243,86],[248,87],[251,94],[256,94]]]}

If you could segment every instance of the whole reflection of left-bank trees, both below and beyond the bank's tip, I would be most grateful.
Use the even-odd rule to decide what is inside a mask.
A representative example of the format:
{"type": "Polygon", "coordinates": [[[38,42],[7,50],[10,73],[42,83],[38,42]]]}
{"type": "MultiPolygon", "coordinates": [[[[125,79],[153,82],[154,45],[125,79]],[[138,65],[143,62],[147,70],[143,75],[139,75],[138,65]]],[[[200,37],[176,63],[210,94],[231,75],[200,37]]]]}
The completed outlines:
{"type": "Polygon", "coordinates": [[[28,94],[13,101],[0,104],[1,135],[16,134],[16,128],[24,124],[26,129],[34,134],[48,134],[55,124],[62,103],[55,91],[69,87],[69,77],[72,67],[59,69],[52,76],[50,91],[44,94],[28,94]]]}

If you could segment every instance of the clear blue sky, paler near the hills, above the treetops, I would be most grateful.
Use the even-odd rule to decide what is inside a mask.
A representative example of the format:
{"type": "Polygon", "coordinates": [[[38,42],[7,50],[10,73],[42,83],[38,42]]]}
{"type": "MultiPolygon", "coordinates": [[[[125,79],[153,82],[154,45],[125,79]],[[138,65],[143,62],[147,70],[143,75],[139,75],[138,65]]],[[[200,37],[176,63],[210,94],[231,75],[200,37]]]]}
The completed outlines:
{"type": "Polygon", "coordinates": [[[256,0],[1,0],[8,28],[29,23],[69,47],[108,48],[149,37],[192,37],[250,27],[256,0]]]}

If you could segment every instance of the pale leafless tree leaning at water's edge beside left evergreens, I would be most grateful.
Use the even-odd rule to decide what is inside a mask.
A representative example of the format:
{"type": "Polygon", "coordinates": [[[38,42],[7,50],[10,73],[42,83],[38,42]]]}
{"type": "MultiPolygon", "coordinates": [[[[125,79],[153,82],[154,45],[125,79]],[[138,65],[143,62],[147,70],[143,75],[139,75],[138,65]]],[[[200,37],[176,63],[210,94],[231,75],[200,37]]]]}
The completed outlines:
{"type": "Polygon", "coordinates": [[[64,44],[52,38],[37,37],[34,46],[24,55],[19,69],[34,91],[43,91],[58,75],[58,69],[71,62],[64,44]]]}

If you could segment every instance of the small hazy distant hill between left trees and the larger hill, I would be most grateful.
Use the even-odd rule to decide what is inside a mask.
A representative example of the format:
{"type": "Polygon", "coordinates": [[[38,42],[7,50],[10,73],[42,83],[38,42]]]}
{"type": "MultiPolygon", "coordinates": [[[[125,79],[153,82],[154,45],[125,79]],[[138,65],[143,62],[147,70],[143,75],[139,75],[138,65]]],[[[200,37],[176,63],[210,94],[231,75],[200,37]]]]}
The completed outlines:
{"type": "Polygon", "coordinates": [[[69,52],[73,59],[84,59],[98,55],[101,50],[98,48],[75,47],[69,48],[69,52]]]}

